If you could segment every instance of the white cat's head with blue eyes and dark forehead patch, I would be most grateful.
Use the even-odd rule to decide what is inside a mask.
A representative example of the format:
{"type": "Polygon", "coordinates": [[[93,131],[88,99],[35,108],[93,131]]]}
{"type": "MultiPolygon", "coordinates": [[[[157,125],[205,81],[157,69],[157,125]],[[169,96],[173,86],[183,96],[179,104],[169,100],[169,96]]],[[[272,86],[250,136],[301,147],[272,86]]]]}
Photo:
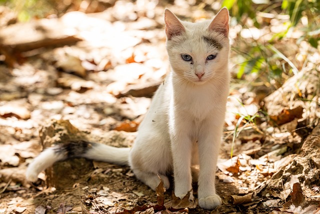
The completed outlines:
{"type": "Polygon", "coordinates": [[[166,49],[173,71],[181,80],[203,84],[226,75],[229,54],[229,13],[222,8],[212,21],[180,21],[164,12],[166,49]]]}

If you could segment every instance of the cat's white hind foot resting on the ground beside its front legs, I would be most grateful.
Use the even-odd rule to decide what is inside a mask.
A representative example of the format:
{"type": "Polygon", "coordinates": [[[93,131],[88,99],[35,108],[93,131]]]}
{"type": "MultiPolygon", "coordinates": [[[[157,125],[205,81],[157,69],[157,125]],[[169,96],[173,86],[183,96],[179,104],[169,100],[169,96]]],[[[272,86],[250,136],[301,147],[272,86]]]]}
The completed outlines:
{"type": "Polygon", "coordinates": [[[155,174],[152,172],[144,172],[138,169],[133,169],[132,170],[136,178],[141,180],[143,183],[148,185],[151,189],[155,190],[155,188],[159,185],[160,179],[159,177],[163,180],[163,185],[166,189],[170,187],[170,182],[167,176],[163,174],[155,174]],[[158,177],[159,176],[159,177],[158,177]]]}

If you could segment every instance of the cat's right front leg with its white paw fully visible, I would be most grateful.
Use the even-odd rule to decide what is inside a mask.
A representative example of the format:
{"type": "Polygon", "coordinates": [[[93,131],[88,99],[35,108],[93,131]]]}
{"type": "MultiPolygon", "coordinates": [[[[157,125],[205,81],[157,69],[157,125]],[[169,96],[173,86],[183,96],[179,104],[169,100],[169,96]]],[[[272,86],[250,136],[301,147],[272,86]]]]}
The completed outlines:
{"type": "Polygon", "coordinates": [[[221,204],[221,198],[215,193],[215,170],[219,153],[222,128],[209,126],[198,139],[200,173],[198,178],[198,203],[205,209],[221,204]]]}

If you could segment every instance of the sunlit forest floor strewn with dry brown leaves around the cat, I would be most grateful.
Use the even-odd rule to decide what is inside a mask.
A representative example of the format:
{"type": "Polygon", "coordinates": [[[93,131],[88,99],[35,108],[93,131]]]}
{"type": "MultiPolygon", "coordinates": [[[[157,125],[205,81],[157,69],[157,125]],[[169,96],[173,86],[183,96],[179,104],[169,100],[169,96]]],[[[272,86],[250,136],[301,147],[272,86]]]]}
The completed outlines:
{"type": "Polygon", "coordinates": [[[36,183],[25,180],[27,164],[54,143],[132,145],[169,69],[164,8],[197,21],[220,7],[177,2],[117,1],[98,13],[83,11],[102,6],[82,5],[60,18],[11,25],[14,16],[1,8],[7,22],[0,23],[0,214],[320,213],[319,50],[296,45],[296,30],[274,44],[287,57],[280,64],[295,65],[294,75],[235,78],[238,50],[263,44],[282,18],[261,30],[249,21],[249,28],[230,26],[233,79],[216,174],[221,206],[203,210],[172,198],[172,189],[162,198],[129,167],[85,159],[57,163],[36,183]]]}

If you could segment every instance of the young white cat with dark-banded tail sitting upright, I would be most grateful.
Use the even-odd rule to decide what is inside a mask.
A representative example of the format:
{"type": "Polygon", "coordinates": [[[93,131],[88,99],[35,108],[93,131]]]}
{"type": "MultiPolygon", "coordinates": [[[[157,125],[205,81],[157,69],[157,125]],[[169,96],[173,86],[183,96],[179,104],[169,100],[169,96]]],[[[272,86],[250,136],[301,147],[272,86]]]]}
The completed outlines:
{"type": "MultiPolygon", "coordinates": [[[[132,148],[91,142],[70,142],[47,148],[31,162],[26,178],[56,161],[84,157],[128,164],[136,178],[155,190],[158,175],[182,198],[192,189],[191,165],[199,164],[198,204],[221,204],[215,192],[215,170],[229,90],[229,14],[222,8],[212,21],[180,21],[164,12],[166,49],[171,72],[157,89],[132,148]]],[[[193,197],[192,195],[190,197],[193,197]]]]}

